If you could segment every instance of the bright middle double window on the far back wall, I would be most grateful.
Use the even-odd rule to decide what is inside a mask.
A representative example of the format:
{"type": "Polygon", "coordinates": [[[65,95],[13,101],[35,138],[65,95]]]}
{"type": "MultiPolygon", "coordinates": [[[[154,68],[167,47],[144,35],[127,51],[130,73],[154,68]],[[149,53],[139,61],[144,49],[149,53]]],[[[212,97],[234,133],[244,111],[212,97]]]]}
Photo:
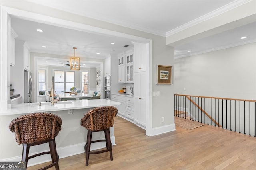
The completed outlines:
{"type": "Polygon", "coordinates": [[[54,90],[56,93],[70,92],[75,86],[74,71],[54,71],[54,90]]]}

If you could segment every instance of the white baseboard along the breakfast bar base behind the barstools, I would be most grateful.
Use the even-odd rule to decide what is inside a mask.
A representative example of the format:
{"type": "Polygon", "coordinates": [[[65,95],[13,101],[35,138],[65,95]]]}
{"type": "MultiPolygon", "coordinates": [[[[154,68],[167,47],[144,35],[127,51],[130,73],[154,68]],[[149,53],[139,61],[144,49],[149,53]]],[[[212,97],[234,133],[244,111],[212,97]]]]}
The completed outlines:
{"type": "MultiPolygon", "coordinates": [[[[115,143],[115,136],[111,136],[111,143],[112,145],[116,145],[115,143]]],[[[60,147],[57,148],[57,153],[59,155],[59,158],[66,158],[68,156],[73,156],[76,154],[81,154],[84,153],[84,145],[85,143],[79,143],[79,144],[75,144],[75,145],[69,145],[66,147],[60,147]]],[[[101,149],[106,147],[106,142],[97,142],[97,143],[92,143],[91,144],[91,149],[90,150],[96,150],[96,149],[101,149]]],[[[47,152],[48,150],[42,151],[42,152],[47,152]]],[[[30,153],[29,156],[37,154],[38,152],[34,152],[34,153],[30,153]]],[[[14,162],[14,161],[20,161],[21,160],[21,156],[16,156],[16,157],[12,157],[12,158],[7,158],[7,159],[2,159],[0,160],[2,161],[10,161],[10,162],[14,162]]],[[[28,166],[34,166],[37,164],[42,164],[44,162],[49,162],[52,161],[50,154],[46,154],[46,155],[42,155],[42,156],[38,156],[35,158],[32,158],[30,160],[28,160],[28,166]]],[[[85,160],[84,160],[85,161],[85,160]]]]}

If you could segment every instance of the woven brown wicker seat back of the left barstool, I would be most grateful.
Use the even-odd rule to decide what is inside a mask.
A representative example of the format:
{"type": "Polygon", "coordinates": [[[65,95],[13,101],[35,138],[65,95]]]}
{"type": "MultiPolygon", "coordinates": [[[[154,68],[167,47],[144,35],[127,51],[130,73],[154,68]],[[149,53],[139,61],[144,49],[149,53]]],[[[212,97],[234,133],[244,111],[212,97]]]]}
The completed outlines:
{"type": "Polygon", "coordinates": [[[52,113],[32,113],[13,119],[9,129],[15,132],[18,144],[54,139],[61,130],[62,120],[52,113]]]}

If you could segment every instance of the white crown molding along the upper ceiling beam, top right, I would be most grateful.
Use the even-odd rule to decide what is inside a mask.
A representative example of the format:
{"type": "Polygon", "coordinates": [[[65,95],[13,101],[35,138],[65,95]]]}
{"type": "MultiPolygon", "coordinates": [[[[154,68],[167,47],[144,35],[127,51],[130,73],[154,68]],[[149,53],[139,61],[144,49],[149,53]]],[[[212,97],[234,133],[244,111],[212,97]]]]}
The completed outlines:
{"type": "Polygon", "coordinates": [[[213,18],[215,16],[218,16],[220,14],[223,14],[224,12],[227,12],[229,10],[232,10],[234,8],[237,8],[238,6],[241,6],[243,4],[246,4],[248,2],[250,2],[252,0],[235,0],[234,2],[231,2],[229,4],[226,4],[225,6],[222,6],[212,12],[209,12],[208,14],[205,14],[203,16],[200,16],[199,18],[196,18],[195,20],[192,20],[188,23],[185,23],[175,29],[172,29],[168,32],[166,32],[166,37],[170,36],[170,35],[173,35],[175,33],[178,33],[180,31],[183,31],[185,29],[188,29],[189,27],[192,27],[194,25],[197,25],[203,21],[206,21],[206,20],[209,20],[210,18],[213,18]]]}

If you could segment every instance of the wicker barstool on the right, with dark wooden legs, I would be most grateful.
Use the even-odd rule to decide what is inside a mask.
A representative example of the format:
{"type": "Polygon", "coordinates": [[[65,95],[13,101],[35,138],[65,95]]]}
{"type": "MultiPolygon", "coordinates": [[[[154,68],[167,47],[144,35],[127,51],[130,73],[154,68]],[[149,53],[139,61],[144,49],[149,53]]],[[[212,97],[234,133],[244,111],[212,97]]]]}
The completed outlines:
{"type": "Polygon", "coordinates": [[[86,164],[88,166],[89,155],[90,154],[99,154],[103,152],[110,153],[110,160],[113,160],[112,155],[112,143],[110,140],[110,131],[109,128],[114,125],[114,118],[117,114],[117,109],[114,106],[106,107],[96,107],[90,109],[81,119],[81,126],[87,129],[87,141],[84,146],[86,152],[86,164]],[[104,131],[105,140],[96,140],[92,141],[92,132],[104,131]],[[90,151],[91,143],[95,142],[106,142],[106,149],[100,151],[90,151]]]}

